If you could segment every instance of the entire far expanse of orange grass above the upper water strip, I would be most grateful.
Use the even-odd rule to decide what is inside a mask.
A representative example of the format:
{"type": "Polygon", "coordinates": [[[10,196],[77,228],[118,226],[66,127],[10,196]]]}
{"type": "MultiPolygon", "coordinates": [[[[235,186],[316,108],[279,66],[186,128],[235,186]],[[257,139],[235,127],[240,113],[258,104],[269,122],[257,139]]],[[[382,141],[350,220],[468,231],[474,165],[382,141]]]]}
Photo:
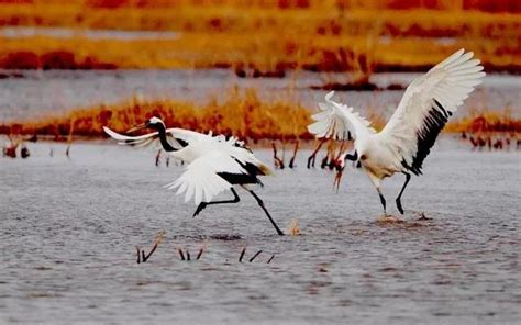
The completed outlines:
{"type": "MultiPolygon", "coordinates": [[[[162,41],[4,38],[0,40],[0,67],[355,70],[363,79],[375,70],[424,69],[466,47],[478,54],[488,70],[521,69],[521,14],[461,11],[450,5],[451,10],[442,11],[385,7],[374,11],[362,4],[345,10],[335,1],[285,10],[277,1],[253,8],[241,1],[219,5],[177,1],[175,9],[164,2],[169,10],[104,9],[84,1],[41,3],[3,4],[0,23],[177,31],[180,36],[162,41]],[[451,40],[443,43],[433,37],[451,40]]],[[[378,1],[373,8],[378,8],[378,1]]]]}

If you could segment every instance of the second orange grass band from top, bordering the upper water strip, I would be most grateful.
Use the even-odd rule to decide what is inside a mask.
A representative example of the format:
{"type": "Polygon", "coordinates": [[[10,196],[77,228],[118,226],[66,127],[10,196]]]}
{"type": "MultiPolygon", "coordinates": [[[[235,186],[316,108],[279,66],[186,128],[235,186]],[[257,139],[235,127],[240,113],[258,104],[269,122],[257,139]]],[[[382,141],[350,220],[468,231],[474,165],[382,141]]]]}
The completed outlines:
{"type": "Polygon", "coordinates": [[[277,71],[425,70],[461,47],[474,51],[487,71],[521,71],[518,41],[310,36],[276,33],[182,34],[176,40],[70,40],[33,36],[0,40],[0,68],[9,69],[176,69],[232,68],[277,71]]]}

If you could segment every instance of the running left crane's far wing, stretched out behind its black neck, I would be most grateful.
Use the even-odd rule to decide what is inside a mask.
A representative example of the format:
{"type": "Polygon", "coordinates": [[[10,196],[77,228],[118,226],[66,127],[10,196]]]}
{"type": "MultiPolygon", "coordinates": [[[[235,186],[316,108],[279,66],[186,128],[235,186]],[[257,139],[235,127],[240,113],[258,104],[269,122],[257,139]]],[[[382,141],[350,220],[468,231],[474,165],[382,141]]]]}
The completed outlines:
{"type": "MultiPolygon", "coordinates": [[[[146,147],[151,144],[158,145],[159,133],[153,132],[138,136],[129,136],[117,133],[110,130],[107,126],[103,126],[103,131],[113,139],[118,141],[120,145],[129,145],[135,147],[146,147]]],[[[167,128],[166,136],[171,146],[176,149],[186,147],[189,143],[197,141],[201,137],[207,137],[206,134],[198,133],[195,131],[184,130],[184,128],[167,128]]]]}

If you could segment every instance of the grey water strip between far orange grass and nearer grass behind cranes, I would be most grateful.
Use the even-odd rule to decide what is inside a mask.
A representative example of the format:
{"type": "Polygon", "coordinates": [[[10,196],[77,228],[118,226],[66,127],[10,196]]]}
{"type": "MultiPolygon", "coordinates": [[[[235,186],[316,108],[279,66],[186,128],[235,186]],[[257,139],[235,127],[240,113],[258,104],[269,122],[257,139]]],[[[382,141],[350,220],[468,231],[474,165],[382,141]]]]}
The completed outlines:
{"type": "MultiPolygon", "coordinates": [[[[118,70],[118,71],[1,71],[18,78],[0,79],[0,122],[34,120],[59,115],[78,107],[119,103],[132,97],[145,100],[178,99],[206,103],[222,100],[233,87],[255,88],[265,100],[297,101],[315,108],[326,91],[311,90],[325,82],[346,82],[346,74],[288,72],[281,79],[242,79],[231,70],[118,70]],[[20,78],[21,77],[21,78],[20,78]]],[[[380,87],[409,85],[421,74],[375,74],[372,81],[380,87]]],[[[519,76],[490,75],[465,101],[457,113],[469,110],[505,110],[521,117],[519,76]]],[[[389,116],[398,105],[402,90],[343,91],[337,98],[361,112],[389,116]]]]}

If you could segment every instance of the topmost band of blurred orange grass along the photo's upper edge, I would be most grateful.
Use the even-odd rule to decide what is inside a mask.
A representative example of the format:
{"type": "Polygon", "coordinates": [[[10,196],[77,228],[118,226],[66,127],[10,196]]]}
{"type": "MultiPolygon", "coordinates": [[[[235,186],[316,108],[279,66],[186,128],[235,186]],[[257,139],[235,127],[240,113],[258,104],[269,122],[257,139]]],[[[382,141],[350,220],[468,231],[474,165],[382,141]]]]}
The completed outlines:
{"type": "MultiPolygon", "coordinates": [[[[363,2],[339,5],[335,1],[315,1],[306,8],[241,5],[236,3],[182,3],[170,5],[117,8],[92,7],[85,1],[36,1],[2,3],[0,25],[60,26],[77,29],[179,31],[179,32],[256,32],[291,30],[299,34],[359,34],[374,32],[389,36],[487,36],[519,35],[521,10],[478,11],[472,7],[433,10],[412,7],[370,8],[363,2]]],[[[403,1],[396,1],[403,2],[403,1]]],[[[448,1],[451,2],[451,1],[448,1]]],[[[501,2],[501,1],[499,1],[501,2]]],[[[243,2],[244,3],[244,2],[243,2]]],[[[519,5],[521,8],[521,5],[519,5]]]]}

